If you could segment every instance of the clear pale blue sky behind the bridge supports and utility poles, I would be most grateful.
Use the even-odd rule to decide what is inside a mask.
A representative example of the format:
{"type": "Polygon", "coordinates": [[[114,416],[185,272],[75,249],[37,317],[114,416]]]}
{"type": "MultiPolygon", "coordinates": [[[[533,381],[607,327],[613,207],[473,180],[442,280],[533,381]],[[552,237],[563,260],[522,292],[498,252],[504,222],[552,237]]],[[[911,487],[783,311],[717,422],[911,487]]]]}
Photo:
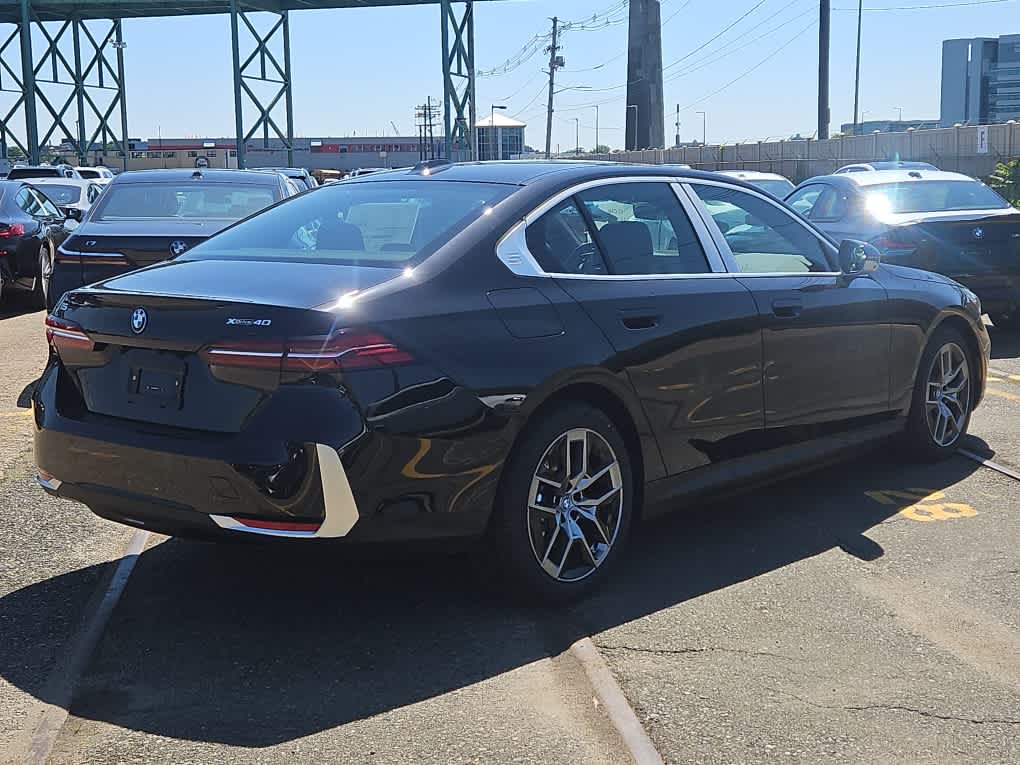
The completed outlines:
{"type": "MultiPolygon", "coordinates": [[[[865,8],[965,1],[865,0],[865,8]]],[[[856,0],[833,0],[832,5],[834,131],[852,118],[857,14],[856,0]]],[[[817,0],[664,0],[663,61],[668,65],[678,60],[666,70],[667,141],[674,133],[677,103],[683,107],[683,140],[701,137],[697,110],[708,112],[710,142],[811,135],[817,6],[817,0]],[[746,18],[708,43],[749,10],[746,18]]],[[[626,8],[617,0],[476,2],[476,67],[500,66],[532,36],[548,32],[554,14],[578,21],[611,8],[619,8],[608,16],[618,22],[563,36],[566,69],[557,76],[563,86],[620,85],[626,80],[626,56],[619,54],[625,50],[627,24],[626,8]],[[608,60],[614,56],[619,57],[608,60]]],[[[865,118],[895,118],[897,107],[907,118],[937,117],[941,41],[1020,33],[1020,0],[873,10],[864,16],[865,118]]],[[[226,16],[130,19],[124,38],[133,137],[155,137],[157,126],[163,136],[233,135],[226,16]]],[[[402,135],[414,135],[413,106],[427,95],[442,94],[438,5],[294,12],[291,39],[297,135],[393,135],[391,120],[402,135]]],[[[539,52],[512,71],[477,81],[478,115],[484,115],[490,104],[507,104],[508,114],[528,123],[526,141],[536,147],[545,139],[545,58],[539,52]]],[[[620,146],[624,93],[618,88],[558,95],[554,145],[573,147],[577,117],[580,143],[591,147],[595,108],[584,104],[599,101],[600,141],[620,146]]]]}

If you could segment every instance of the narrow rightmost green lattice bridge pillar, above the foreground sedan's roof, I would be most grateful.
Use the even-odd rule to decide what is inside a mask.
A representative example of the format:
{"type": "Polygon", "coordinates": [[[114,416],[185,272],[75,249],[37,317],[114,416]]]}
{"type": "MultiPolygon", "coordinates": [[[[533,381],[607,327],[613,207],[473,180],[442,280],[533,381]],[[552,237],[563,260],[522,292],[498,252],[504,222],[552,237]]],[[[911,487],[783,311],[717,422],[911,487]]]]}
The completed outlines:
{"type": "Polygon", "coordinates": [[[443,37],[443,125],[446,156],[475,157],[474,9],[465,0],[458,17],[452,0],[440,0],[443,37]]]}

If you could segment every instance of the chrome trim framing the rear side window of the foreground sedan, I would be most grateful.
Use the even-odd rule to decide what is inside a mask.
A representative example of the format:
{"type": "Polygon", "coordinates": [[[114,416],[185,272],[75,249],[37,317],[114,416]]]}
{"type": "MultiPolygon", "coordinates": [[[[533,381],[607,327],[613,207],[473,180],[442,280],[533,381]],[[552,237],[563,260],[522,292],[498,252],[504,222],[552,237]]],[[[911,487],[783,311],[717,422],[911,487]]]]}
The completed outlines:
{"type": "Polygon", "coordinates": [[[688,196],[682,192],[682,178],[674,175],[617,175],[614,177],[596,178],[575,184],[574,186],[559,191],[549,197],[540,205],[532,208],[531,211],[524,215],[521,220],[518,220],[510,226],[507,233],[500,238],[499,242],[496,243],[496,256],[508,269],[510,269],[512,273],[515,273],[518,276],[602,279],[608,282],[646,282],[649,279],[718,278],[720,276],[733,276],[734,274],[727,270],[725,260],[722,252],[719,250],[718,243],[711,236],[712,227],[716,227],[715,224],[713,223],[712,227],[705,224],[705,221],[701,218],[701,213],[698,207],[692,203],[688,196]],[[709,268],[712,269],[711,271],[706,271],[704,273],[560,273],[556,271],[546,271],[542,268],[542,265],[540,265],[539,261],[536,260],[534,256],[531,254],[531,251],[527,249],[525,231],[528,225],[541,218],[556,205],[560,204],[560,202],[573,197],[575,194],[579,194],[580,192],[589,189],[597,189],[602,186],[633,183],[666,184],[670,187],[670,189],[672,189],[673,194],[676,196],[676,201],[679,203],[680,208],[687,216],[692,226],[694,226],[695,234],[698,236],[702,245],[702,250],[705,253],[705,259],[708,261],[709,268]]]}

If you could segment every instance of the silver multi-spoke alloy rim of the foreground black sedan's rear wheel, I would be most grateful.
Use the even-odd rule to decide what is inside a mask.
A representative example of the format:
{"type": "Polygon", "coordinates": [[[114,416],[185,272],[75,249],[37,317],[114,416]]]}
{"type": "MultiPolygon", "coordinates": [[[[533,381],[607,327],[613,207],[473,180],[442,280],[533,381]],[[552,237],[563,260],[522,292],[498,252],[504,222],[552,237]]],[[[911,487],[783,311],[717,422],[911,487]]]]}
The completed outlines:
{"type": "Polygon", "coordinates": [[[539,461],[527,530],[539,565],[557,581],[579,581],[606,560],[623,516],[623,476],[609,443],[584,427],[553,441],[539,461]]]}

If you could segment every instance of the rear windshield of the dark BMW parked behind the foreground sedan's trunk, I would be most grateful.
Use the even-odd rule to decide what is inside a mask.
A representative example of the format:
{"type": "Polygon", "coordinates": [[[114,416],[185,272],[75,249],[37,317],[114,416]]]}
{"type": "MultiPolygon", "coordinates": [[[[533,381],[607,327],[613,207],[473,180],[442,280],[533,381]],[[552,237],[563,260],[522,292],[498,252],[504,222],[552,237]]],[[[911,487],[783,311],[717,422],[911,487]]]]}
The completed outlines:
{"type": "Polygon", "coordinates": [[[240,220],[276,201],[264,186],[195,183],[111,186],[101,199],[93,220],[240,220]]]}

